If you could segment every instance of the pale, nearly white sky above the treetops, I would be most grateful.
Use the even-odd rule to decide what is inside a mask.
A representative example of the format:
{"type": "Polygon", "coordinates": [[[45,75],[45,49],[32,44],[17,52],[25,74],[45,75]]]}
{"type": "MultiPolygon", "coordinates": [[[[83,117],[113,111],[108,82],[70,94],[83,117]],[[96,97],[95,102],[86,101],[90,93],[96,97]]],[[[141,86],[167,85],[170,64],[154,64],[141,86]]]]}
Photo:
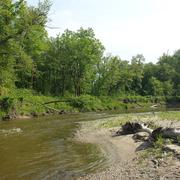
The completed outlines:
{"type": "MultiPolygon", "coordinates": [[[[49,36],[93,28],[107,54],[131,60],[143,54],[156,63],[180,49],[180,0],[51,0],[49,36]]],[[[27,0],[37,5],[39,0],[27,0]]]]}

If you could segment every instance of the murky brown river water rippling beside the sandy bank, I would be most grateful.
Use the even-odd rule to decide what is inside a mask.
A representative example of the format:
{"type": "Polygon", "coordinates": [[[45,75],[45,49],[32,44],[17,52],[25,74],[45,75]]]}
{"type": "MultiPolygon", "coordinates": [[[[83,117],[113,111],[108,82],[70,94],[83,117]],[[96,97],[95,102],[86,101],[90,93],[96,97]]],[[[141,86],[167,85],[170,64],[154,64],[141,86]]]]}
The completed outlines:
{"type": "Polygon", "coordinates": [[[83,113],[0,122],[0,179],[73,179],[103,168],[93,144],[73,137],[80,121],[110,117],[83,113]]]}

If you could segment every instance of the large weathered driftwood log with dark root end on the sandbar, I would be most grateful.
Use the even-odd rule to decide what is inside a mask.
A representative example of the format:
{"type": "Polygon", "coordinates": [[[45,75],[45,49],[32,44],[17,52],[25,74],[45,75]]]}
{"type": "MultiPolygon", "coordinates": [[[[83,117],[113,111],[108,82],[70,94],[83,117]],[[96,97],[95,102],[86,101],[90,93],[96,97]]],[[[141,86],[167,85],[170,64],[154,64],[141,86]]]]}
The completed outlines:
{"type": "Polygon", "coordinates": [[[164,128],[159,127],[155,130],[148,127],[145,123],[127,122],[122,126],[122,129],[116,132],[116,135],[135,134],[137,132],[147,132],[153,141],[156,141],[158,137],[170,138],[174,140],[180,140],[180,128],[164,128]]]}

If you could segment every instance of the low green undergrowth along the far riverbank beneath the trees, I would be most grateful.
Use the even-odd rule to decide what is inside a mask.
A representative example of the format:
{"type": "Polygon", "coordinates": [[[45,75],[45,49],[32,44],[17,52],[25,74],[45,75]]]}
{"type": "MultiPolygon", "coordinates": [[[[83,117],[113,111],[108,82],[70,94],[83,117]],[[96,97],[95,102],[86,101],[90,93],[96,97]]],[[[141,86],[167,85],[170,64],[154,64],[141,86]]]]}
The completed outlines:
{"type": "MultiPolygon", "coordinates": [[[[47,107],[43,106],[45,102],[65,100],[64,102],[48,104],[48,107],[55,108],[58,110],[63,110],[65,112],[90,112],[90,111],[106,111],[106,110],[115,110],[118,112],[128,112],[128,110],[136,111],[139,109],[137,104],[134,103],[123,103],[123,98],[118,97],[95,97],[90,95],[81,95],[79,97],[74,97],[69,95],[68,97],[52,97],[44,96],[38,94],[33,90],[27,89],[6,89],[6,92],[3,96],[0,96],[0,102],[4,97],[13,99],[13,104],[15,111],[20,115],[29,115],[31,113],[45,113],[47,107]]],[[[145,103],[146,98],[144,97],[131,97],[131,99],[136,99],[139,103],[145,103]]],[[[149,103],[146,102],[146,105],[143,105],[143,108],[148,108],[149,103]]],[[[143,109],[142,108],[142,109],[143,109]]],[[[10,111],[11,112],[11,111],[10,111]]],[[[0,110],[0,117],[7,114],[2,109],[0,110]]],[[[109,126],[116,126],[119,123],[111,122],[107,124],[109,126]],[[111,125],[112,123],[112,125],[111,125]]],[[[106,126],[106,125],[105,125],[106,126]]]]}

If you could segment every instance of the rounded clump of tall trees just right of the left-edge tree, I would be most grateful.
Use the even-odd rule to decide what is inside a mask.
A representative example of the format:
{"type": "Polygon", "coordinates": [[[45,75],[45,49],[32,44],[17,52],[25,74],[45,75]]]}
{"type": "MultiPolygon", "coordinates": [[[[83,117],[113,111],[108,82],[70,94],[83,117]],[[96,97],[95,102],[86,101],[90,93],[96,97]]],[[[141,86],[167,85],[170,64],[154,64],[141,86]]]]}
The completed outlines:
{"type": "Polygon", "coordinates": [[[45,91],[64,95],[67,90],[76,96],[90,93],[103,52],[103,45],[90,28],[80,28],[77,32],[66,30],[51,39],[39,66],[44,71],[45,91]]]}

